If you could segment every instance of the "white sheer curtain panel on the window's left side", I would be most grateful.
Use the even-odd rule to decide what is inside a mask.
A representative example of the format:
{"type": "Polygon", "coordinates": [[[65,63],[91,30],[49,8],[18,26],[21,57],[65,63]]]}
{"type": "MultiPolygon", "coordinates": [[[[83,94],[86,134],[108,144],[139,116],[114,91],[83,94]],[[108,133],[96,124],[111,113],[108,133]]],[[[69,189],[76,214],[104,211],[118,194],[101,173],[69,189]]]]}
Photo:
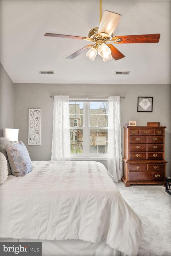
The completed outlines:
{"type": "Polygon", "coordinates": [[[71,160],[69,96],[54,96],[51,160],[71,160]]]}

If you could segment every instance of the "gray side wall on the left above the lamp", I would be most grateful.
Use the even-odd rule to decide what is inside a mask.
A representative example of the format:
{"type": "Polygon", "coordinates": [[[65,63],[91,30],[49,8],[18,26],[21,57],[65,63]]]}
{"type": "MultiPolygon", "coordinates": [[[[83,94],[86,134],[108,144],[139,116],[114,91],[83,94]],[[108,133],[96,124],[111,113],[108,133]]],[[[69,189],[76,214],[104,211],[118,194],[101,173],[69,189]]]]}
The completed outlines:
{"type": "Polygon", "coordinates": [[[0,63],[0,137],[14,127],[14,84],[0,63]]]}

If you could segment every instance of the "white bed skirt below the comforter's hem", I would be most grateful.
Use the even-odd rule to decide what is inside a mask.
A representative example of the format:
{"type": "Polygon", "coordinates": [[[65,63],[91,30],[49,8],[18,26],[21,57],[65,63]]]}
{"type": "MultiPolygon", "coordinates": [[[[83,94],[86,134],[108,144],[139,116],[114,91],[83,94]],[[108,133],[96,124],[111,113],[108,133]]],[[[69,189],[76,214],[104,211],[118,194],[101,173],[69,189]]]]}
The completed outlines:
{"type": "Polygon", "coordinates": [[[32,239],[0,239],[0,242],[41,242],[42,256],[127,256],[112,249],[103,242],[91,243],[82,240],[32,240],[32,239]]]}

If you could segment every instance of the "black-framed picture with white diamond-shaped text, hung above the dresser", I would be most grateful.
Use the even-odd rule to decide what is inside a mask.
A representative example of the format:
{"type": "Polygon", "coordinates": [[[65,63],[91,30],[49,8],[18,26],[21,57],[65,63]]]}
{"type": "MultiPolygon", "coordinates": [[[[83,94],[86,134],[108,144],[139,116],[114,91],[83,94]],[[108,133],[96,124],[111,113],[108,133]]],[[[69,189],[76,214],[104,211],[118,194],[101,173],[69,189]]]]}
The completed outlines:
{"type": "Polygon", "coordinates": [[[153,97],[139,96],[137,112],[153,112],[153,97]]]}

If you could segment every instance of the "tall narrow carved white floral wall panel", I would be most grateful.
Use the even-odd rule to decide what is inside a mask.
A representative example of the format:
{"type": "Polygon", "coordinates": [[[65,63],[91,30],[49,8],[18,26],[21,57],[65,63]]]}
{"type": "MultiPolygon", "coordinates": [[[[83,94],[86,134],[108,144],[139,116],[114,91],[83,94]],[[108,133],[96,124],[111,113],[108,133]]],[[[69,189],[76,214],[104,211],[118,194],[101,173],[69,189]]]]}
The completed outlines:
{"type": "Polygon", "coordinates": [[[29,141],[28,145],[40,146],[41,109],[29,109],[29,141]]]}

